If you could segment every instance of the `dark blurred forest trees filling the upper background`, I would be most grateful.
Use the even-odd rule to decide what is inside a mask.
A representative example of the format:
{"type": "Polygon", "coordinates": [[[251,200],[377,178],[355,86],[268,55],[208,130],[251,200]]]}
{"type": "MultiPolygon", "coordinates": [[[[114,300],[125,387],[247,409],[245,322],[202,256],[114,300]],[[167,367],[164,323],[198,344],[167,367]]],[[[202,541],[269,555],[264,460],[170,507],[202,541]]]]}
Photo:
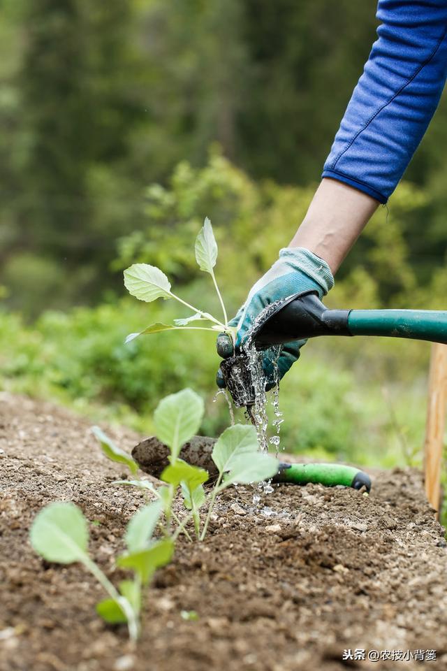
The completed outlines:
{"type": "MultiPolygon", "coordinates": [[[[376,29],[376,0],[1,6],[0,284],[27,319],[120,294],[118,238],[122,259],[140,249],[189,281],[183,241],[206,213],[234,238],[227,264],[245,266],[243,249],[263,268],[300,222],[376,29]],[[208,164],[213,143],[222,154],[208,164]],[[221,185],[223,157],[237,168],[221,185]]],[[[443,99],[406,175],[416,188],[342,269],[379,270],[384,304],[409,282],[427,287],[445,259],[446,117],[443,99]]]]}

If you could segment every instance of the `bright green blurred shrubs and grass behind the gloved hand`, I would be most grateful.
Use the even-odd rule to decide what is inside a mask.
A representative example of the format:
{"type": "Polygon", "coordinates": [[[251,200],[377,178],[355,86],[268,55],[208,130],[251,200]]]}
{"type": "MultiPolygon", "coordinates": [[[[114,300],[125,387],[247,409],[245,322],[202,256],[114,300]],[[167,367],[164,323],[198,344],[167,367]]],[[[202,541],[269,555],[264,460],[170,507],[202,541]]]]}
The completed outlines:
{"type": "MultiPolygon", "coordinates": [[[[165,186],[147,189],[147,225],[119,240],[114,264],[119,268],[149,261],[161,266],[186,301],[217,312],[212,285],[193,254],[201,224],[198,212],[209,213],[219,241],[217,277],[235,312],[247,287],[274,260],[284,234],[292,236],[310,192],[272,181],[257,183],[214,149],[203,168],[182,161],[165,186]]],[[[434,275],[433,292],[430,287],[416,291],[416,270],[402,233],[406,216],[424,206],[425,194],[404,182],[393,203],[393,214],[382,209],[375,215],[361,263],[346,264],[328,304],[374,308],[425,301],[427,307],[436,307],[441,280],[434,275]]],[[[46,272],[52,272],[51,266],[46,272]]],[[[124,345],[128,333],[187,314],[174,301],[147,305],[113,294],[96,308],[47,310],[33,326],[4,312],[3,386],[58,398],[82,412],[126,421],[145,432],[151,431],[150,417],[159,398],[191,386],[207,401],[203,431],[216,435],[228,424],[228,409],[220,397],[213,402],[219,359],[212,333],[160,333],[124,345]]],[[[380,338],[309,342],[281,383],[284,447],[369,465],[418,463],[429,352],[424,342],[380,338]]]]}

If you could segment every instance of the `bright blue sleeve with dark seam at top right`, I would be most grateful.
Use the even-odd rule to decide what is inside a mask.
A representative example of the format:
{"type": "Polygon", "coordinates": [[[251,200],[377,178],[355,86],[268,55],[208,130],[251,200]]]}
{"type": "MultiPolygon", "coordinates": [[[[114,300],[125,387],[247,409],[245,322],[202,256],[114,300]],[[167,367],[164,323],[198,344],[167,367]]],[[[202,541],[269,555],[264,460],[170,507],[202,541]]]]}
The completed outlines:
{"type": "Polygon", "coordinates": [[[346,108],[323,177],[386,203],[444,88],[447,0],[379,0],[377,18],[379,39],[346,108]]]}

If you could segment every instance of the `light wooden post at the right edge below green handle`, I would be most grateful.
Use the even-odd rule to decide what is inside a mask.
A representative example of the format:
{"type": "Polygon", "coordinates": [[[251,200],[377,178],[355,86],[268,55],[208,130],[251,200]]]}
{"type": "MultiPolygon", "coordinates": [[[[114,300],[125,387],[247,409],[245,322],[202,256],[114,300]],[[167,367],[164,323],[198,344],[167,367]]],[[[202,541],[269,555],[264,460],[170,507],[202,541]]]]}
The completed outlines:
{"type": "Polygon", "coordinates": [[[434,342],[428,380],[427,425],[425,426],[425,493],[439,518],[441,465],[447,401],[447,345],[434,342]]]}

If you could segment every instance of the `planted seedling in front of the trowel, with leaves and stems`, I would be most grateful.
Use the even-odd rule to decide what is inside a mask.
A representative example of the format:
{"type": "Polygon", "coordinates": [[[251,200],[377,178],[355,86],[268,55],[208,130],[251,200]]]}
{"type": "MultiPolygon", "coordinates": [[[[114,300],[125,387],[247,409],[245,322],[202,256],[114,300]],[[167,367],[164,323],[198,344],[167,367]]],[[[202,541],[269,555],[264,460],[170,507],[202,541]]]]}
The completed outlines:
{"type": "MultiPolygon", "coordinates": [[[[219,493],[233,484],[251,484],[273,477],[278,468],[277,460],[273,456],[258,451],[258,437],[254,426],[235,424],[223,431],[214,445],[212,460],[217,466],[219,477],[212,489],[205,491],[203,485],[209,479],[207,470],[179,459],[182,445],[198,432],[202,418],[203,401],[191,389],[183,389],[163,398],[154,412],[154,425],[156,438],[170,450],[168,466],[161,473],[161,479],[168,486],[157,489],[146,480],[116,481],[116,484],[130,484],[155,493],[166,521],[162,525],[163,534],[173,540],[180,533],[188,534],[186,525],[190,521],[193,521],[196,537],[204,540],[219,493]],[[173,512],[177,491],[188,511],[182,519],[173,512]],[[207,512],[202,526],[200,509],[203,507],[207,508],[207,512]],[[175,528],[171,524],[173,520],[177,524],[175,528]]],[[[96,431],[95,435],[103,446],[103,433],[96,431]]],[[[116,459],[116,451],[104,449],[104,453],[109,459],[119,461],[116,459]]]]}

